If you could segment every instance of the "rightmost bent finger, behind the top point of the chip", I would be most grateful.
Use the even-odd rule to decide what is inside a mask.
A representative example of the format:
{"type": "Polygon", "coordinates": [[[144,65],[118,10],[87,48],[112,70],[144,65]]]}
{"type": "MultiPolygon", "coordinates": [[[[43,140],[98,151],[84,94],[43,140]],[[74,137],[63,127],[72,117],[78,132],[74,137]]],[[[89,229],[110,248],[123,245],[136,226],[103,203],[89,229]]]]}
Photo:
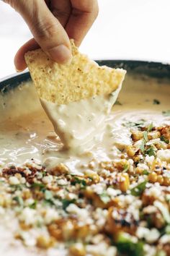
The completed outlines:
{"type": "Polygon", "coordinates": [[[66,25],[69,38],[73,38],[77,46],[96,20],[99,7],[97,0],[71,0],[72,13],[66,25]]]}

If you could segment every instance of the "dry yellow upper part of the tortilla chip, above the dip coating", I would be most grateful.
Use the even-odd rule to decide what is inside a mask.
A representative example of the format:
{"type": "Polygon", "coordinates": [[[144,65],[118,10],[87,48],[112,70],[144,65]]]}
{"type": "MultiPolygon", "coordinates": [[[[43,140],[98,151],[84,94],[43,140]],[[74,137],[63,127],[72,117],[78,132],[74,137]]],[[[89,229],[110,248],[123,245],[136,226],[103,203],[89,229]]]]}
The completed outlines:
{"type": "Polygon", "coordinates": [[[125,77],[125,70],[112,69],[80,54],[71,40],[71,64],[57,64],[41,49],[28,51],[25,60],[40,98],[66,104],[115,91],[125,77]]]}

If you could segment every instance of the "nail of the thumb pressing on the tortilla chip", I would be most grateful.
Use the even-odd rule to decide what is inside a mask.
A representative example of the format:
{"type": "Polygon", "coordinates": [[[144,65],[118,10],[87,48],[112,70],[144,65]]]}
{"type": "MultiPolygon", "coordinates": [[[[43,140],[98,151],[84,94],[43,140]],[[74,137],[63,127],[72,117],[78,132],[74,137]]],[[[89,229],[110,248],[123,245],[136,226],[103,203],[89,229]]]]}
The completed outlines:
{"type": "Polygon", "coordinates": [[[69,50],[63,44],[50,49],[48,54],[50,55],[51,59],[53,59],[53,61],[56,61],[59,64],[70,63],[72,59],[71,50],[69,50]]]}

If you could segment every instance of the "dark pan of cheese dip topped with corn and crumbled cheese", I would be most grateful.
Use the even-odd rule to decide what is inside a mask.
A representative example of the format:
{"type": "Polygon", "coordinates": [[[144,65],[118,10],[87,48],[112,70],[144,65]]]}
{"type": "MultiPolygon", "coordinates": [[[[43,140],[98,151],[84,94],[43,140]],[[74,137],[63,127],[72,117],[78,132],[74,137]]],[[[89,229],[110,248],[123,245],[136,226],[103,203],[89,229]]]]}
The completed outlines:
{"type": "Polygon", "coordinates": [[[80,155],[61,150],[29,72],[0,80],[0,255],[169,255],[170,66],[97,62],[128,72],[80,155]]]}

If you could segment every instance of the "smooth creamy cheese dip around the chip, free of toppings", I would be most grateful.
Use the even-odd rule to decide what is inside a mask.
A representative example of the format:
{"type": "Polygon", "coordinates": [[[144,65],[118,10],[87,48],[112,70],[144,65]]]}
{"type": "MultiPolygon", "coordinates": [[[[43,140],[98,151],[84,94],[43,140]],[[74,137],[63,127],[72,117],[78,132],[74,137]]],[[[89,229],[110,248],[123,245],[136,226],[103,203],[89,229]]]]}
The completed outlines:
{"type": "MultiPolygon", "coordinates": [[[[163,114],[163,111],[170,108],[169,95],[170,86],[166,82],[160,84],[156,80],[126,77],[119,99],[104,121],[104,134],[97,133],[93,148],[90,147],[82,153],[80,145],[75,153],[75,150],[63,150],[63,144],[42,109],[32,82],[23,83],[0,96],[0,161],[10,164],[23,163],[34,158],[49,169],[62,162],[66,163],[73,174],[78,171],[81,174],[82,163],[92,159],[112,160],[117,157],[122,146],[130,144],[130,122],[153,122],[156,126],[170,124],[170,117],[163,114]]],[[[104,103],[103,98],[100,101],[104,103]]],[[[75,108],[73,103],[71,108],[75,108]]],[[[84,103],[80,104],[80,113],[81,108],[84,111],[84,103]]],[[[88,114],[90,124],[90,108],[88,114]]],[[[69,120],[68,115],[66,118],[69,120]]],[[[81,117],[78,116],[79,118],[81,117]]],[[[70,124],[73,127],[71,121],[72,119],[70,124]]],[[[83,129],[80,120],[77,120],[77,127],[77,131],[83,129]]],[[[94,123],[91,129],[94,129],[94,123]]]]}

